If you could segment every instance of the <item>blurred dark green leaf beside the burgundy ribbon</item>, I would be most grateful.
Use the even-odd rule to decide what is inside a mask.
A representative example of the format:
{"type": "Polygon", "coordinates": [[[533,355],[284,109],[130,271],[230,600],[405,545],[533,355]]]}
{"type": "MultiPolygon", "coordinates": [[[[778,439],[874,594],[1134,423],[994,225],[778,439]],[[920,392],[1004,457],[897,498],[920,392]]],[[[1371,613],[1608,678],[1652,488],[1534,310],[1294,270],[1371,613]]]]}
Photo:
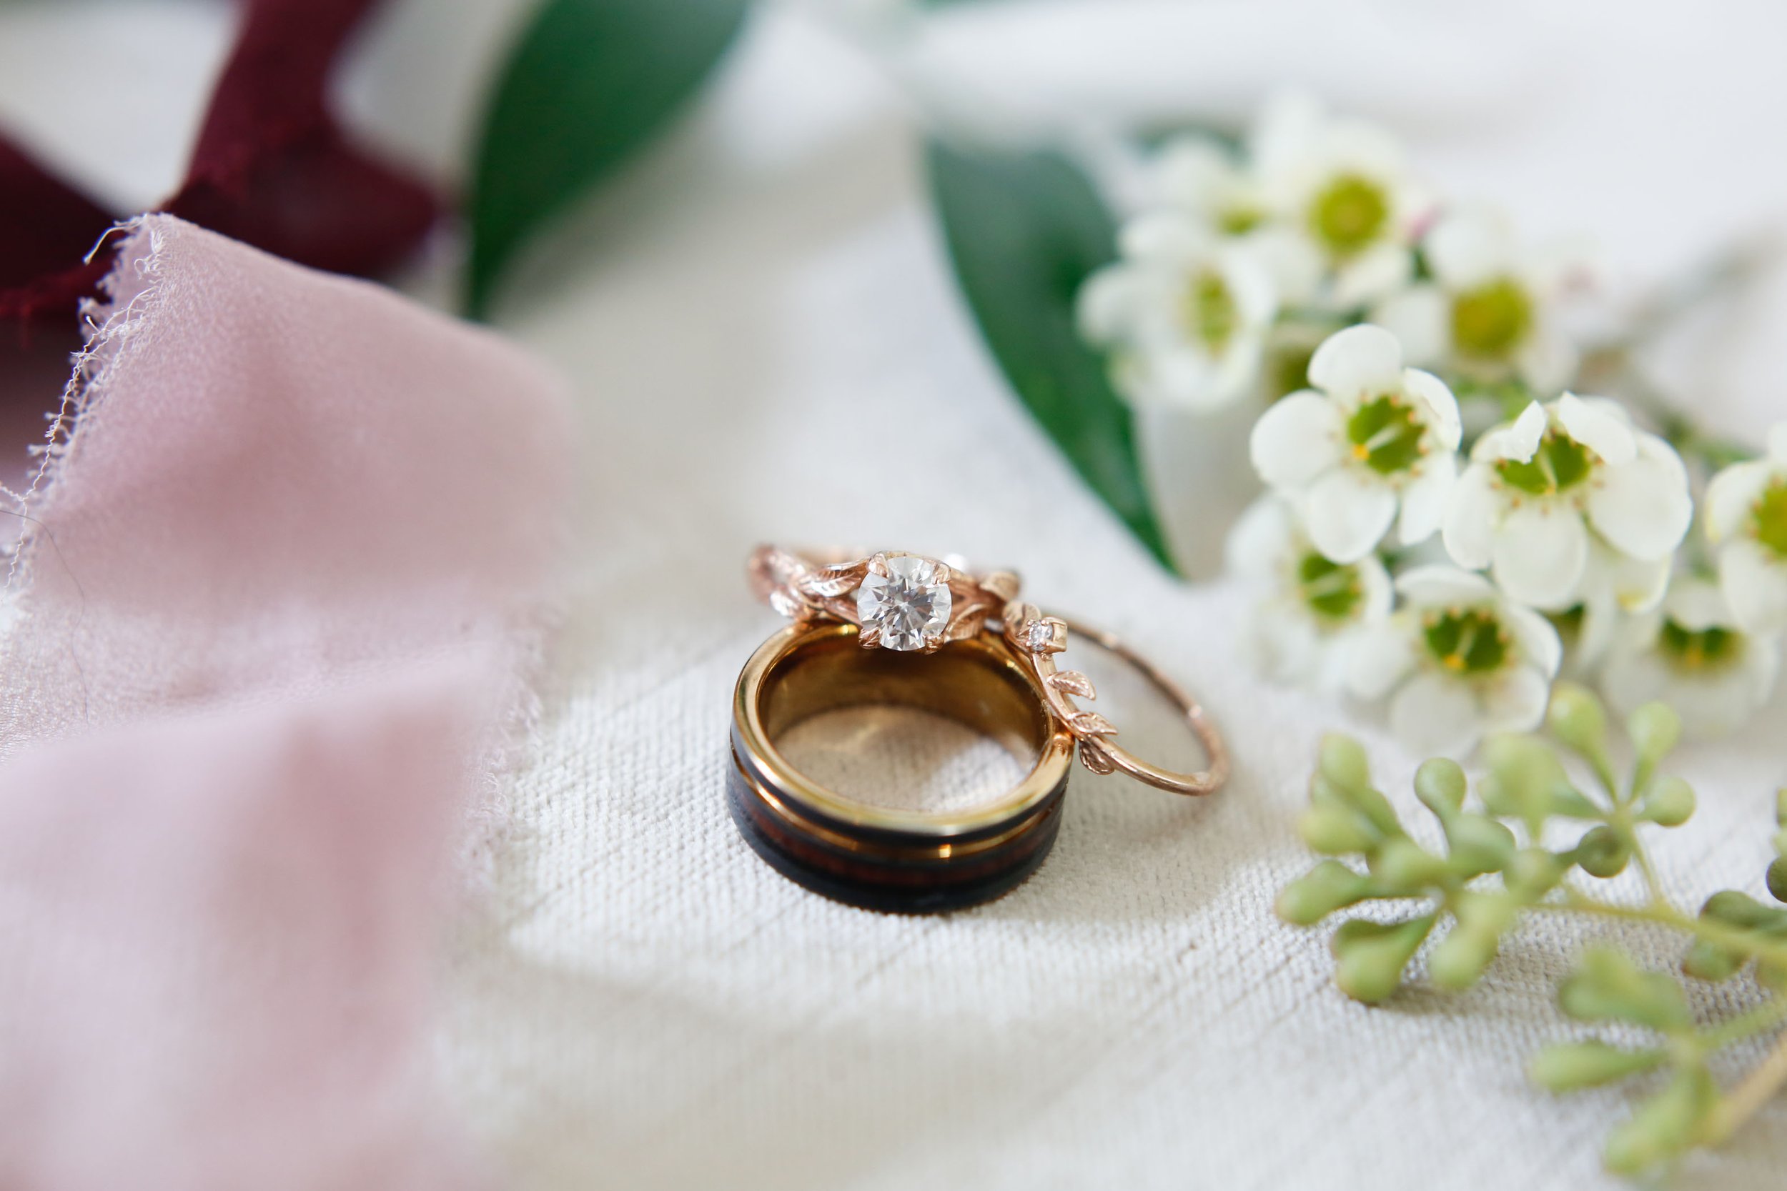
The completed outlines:
{"type": "Polygon", "coordinates": [[[515,252],[697,91],[749,0],[545,0],[504,64],[472,166],[466,309],[515,252]]]}

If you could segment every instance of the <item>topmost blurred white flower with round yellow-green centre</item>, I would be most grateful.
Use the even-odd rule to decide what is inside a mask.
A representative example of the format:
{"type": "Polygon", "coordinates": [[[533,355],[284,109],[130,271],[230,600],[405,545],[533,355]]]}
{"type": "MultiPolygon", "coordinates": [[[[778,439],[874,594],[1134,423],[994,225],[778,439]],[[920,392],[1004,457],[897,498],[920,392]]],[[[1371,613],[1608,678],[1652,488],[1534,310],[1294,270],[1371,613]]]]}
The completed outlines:
{"type": "Polygon", "coordinates": [[[1287,234],[1287,304],[1349,309],[1408,284],[1426,195],[1383,129],[1305,98],[1271,104],[1249,139],[1260,195],[1287,234]],[[1301,264],[1297,261],[1301,257],[1301,264]]]}

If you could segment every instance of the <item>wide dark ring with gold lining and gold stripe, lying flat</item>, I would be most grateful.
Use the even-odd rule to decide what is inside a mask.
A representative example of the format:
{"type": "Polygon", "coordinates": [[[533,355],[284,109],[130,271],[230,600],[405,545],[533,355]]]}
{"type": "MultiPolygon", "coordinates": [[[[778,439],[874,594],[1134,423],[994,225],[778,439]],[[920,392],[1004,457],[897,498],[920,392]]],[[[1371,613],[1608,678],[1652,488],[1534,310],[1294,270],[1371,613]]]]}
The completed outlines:
{"type": "Polygon", "coordinates": [[[733,816],[779,871],[856,905],[952,909],[1004,893],[1047,855],[1072,736],[1036,679],[994,634],[920,655],[863,650],[856,627],[790,625],[745,662],[733,702],[733,816]],[[872,805],[818,786],[777,750],[797,723],[843,707],[904,705],[956,720],[1029,766],[960,812],[872,805]]]}

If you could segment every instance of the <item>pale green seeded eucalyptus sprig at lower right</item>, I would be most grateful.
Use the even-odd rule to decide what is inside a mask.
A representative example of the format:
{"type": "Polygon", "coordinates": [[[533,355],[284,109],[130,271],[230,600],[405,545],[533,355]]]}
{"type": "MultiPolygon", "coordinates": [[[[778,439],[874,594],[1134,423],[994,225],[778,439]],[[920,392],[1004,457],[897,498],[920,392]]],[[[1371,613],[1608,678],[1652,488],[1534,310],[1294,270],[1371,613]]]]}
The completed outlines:
{"type": "MultiPolygon", "coordinates": [[[[1653,1173],[1696,1146],[1723,1143],[1787,1084],[1787,907],[1724,889],[1696,916],[1664,893],[1646,836],[1680,827],[1694,812],[1692,787],[1658,770],[1682,734],[1674,711],[1646,704],[1628,718],[1635,762],[1624,782],[1614,771],[1607,711],[1592,693],[1558,684],[1549,727],[1553,739],[1490,739],[1474,800],[1455,761],[1437,757],[1415,771],[1415,796],[1439,820],[1442,850],[1405,830],[1390,800],[1372,787],[1358,741],[1328,736],[1310,779],[1308,811],[1297,821],[1305,843],[1328,859],[1279,893],[1278,912],[1312,927],[1365,902],[1394,904],[1390,916],[1347,918],[1333,932],[1335,982],[1367,1004],[1387,1000],[1435,937],[1428,980],[1444,989],[1471,987],[1524,912],[1671,927],[1687,936],[1680,970],[1696,980],[1728,980],[1751,970],[1755,1004],[1716,1023],[1696,1018],[1676,973],[1646,971],[1615,946],[1589,948],[1558,987],[1565,1016],[1649,1039],[1617,1045],[1583,1037],[1548,1046],[1531,1059],[1533,1082],[1571,1091],[1665,1071],[1660,1089],[1639,1104],[1605,1150],[1614,1171],[1653,1173]],[[1585,762],[1594,775],[1589,789],[1573,780],[1555,743],[1585,762]],[[1548,836],[1569,836],[1571,843],[1548,846],[1548,836]],[[1644,882],[1640,902],[1592,891],[1592,882],[1628,868],[1644,882]],[[1764,1034],[1780,1036],[1773,1054],[1723,1089],[1708,1059],[1764,1034]]],[[[1774,902],[1787,902],[1787,789],[1776,795],[1774,852],[1766,884],[1774,902]]]]}

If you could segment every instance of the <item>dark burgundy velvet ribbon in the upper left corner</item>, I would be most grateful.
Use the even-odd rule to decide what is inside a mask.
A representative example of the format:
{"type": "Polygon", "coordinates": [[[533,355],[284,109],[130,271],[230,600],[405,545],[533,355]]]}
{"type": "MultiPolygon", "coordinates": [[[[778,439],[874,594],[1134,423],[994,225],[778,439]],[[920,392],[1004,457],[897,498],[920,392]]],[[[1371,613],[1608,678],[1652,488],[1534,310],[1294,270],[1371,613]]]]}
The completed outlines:
{"type": "MultiPolygon", "coordinates": [[[[329,75],[377,0],[245,0],[180,189],[161,211],[289,261],[373,275],[400,264],[440,212],[429,186],[356,146],[329,75]]],[[[0,137],[0,320],[71,323],[111,266],[82,257],[105,211],[0,137]]]]}

